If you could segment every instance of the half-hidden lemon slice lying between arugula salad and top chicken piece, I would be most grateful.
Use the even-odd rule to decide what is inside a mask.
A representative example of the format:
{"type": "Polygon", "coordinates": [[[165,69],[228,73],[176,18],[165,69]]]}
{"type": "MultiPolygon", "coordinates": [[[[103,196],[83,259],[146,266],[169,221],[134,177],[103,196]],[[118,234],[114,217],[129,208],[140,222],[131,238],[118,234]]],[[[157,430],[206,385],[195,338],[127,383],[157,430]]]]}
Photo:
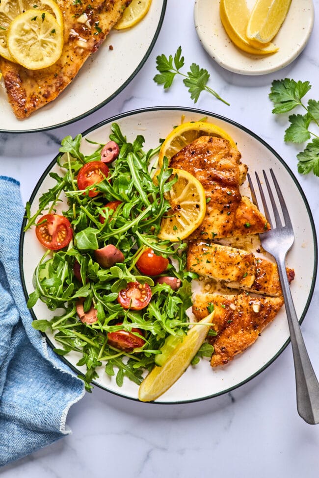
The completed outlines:
{"type": "Polygon", "coordinates": [[[178,179],[164,194],[171,209],[163,216],[159,237],[163,240],[185,239],[203,221],[206,213],[205,191],[201,183],[187,171],[173,169],[178,179]]]}

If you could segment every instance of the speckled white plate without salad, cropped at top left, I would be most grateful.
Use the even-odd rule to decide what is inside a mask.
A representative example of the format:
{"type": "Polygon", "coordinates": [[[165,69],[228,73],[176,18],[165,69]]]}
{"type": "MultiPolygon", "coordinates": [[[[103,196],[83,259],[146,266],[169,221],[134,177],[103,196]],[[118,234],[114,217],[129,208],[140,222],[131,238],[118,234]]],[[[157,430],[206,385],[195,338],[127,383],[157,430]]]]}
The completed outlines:
{"type": "Polygon", "coordinates": [[[18,120],[0,81],[0,132],[42,131],[84,118],[112,100],[133,79],[152,51],[167,0],[152,0],[146,16],[128,30],[111,30],[75,79],[48,105],[18,120]],[[109,47],[112,46],[113,50],[109,47]]]}

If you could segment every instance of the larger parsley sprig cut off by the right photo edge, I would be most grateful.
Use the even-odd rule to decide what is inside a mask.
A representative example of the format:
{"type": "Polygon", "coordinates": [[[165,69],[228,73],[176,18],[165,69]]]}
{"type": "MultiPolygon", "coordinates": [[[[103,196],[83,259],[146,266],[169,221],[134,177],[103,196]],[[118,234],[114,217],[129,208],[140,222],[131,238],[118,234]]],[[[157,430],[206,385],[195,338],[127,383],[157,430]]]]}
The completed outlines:
{"type": "Polygon", "coordinates": [[[309,81],[295,81],[290,78],[274,80],[269,94],[274,103],[272,113],[287,113],[296,107],[302,107],[306,113],[289,116],[290,126],[285,131],[284,140],[295,144],[308,142],[304,151],[297,154],[298,172],[308,174],[311,171],[319,176],[319,136],[312,128],[319,127],[319,101],[308,100],[307,105],[301,100],[311,89],[309,81]],[[311,129],[310,129],[311,128],[311,129]]]}

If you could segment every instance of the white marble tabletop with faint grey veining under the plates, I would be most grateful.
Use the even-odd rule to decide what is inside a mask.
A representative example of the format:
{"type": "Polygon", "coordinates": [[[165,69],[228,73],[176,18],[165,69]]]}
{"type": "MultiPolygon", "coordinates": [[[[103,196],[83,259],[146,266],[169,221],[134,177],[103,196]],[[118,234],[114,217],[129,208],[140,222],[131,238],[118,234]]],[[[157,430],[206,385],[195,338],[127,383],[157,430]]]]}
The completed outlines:
{"type": "MultiPolygon", "coordinates": [[[[298,1],[298,0],[292,0],[298,1]]],[[[142,70],[114,100],[91,116],[41,133],[0,133],[0,174],[21,182],[27,201],[60,140],[99,121],[135,108],[194,106],[181,78],[168,92],[153,81],[156,56],[182,46],[186,67],[206,68],[209,85],[230,106],[203,93],[196,106],[231,118],[270,144],[297,177],[319,226],[319,178],[297,173],[298,148],[283,141],[287,117],[271,114],[273,79],[309,80],[309,98],[319,99],[319,0],[315,26],[301,55],[283,70],[244,76],[219,67],[203,50],[194,28],[194,1],[168,0],[157,43],[142,70]]],[[[2,119],[1,119],[2,120],[2,119]]],[[[305,343],[319,375],[319,293],[315,289],[302,324],[305,343]]],[[[261,375],[239,389],[199,403],[155,405],[132,402],[98,388],[72,406],[73,433],[53,445],[3,467],[5,478],[119,477],[318,477],[319,426],[297,414],[291,346],[261,375]]]]}

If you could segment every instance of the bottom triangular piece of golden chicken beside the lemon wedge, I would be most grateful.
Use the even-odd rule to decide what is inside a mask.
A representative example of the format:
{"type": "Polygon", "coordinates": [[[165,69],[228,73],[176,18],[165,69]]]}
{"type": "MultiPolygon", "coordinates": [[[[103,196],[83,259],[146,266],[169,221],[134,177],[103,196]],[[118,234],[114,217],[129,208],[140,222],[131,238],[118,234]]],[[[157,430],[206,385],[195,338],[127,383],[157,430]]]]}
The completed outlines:
{"type": "Polygon", "coordinates": [[[282,297],[251,297],[249,295],[197,294],[193,313],[197,320],[215,311],[213,329],[217,332],[209,341],[214,347],[212,367],[225,365],[235,355],[252,345],[282,307],[282,297]]]}

